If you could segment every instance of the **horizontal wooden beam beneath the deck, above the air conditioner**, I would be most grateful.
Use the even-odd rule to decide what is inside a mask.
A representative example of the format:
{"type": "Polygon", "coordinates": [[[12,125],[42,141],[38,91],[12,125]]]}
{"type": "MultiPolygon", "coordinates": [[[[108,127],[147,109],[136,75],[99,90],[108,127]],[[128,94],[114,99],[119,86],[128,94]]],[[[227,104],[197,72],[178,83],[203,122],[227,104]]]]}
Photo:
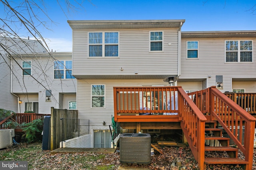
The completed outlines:
{"type": "MultiPolygon", "coordinates": [[[[138,122],[140,129],[181,129],[180,122],[138,122]]],[[[121,122],[123,129],[138,129],[137,122],[121,122]]]]}

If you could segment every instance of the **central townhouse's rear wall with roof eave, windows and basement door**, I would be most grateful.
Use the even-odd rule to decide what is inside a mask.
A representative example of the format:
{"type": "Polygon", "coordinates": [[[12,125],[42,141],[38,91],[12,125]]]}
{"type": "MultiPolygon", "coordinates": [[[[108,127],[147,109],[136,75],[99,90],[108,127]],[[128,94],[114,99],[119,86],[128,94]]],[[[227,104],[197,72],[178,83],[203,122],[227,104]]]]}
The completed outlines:
{"type": "Polygon", "coordinates": [[[163,79],[180,74],[184,20],[68,23],[79,118],[90,119],[92,147],[110,147],[113,87],[169,86],[163,79]]]}

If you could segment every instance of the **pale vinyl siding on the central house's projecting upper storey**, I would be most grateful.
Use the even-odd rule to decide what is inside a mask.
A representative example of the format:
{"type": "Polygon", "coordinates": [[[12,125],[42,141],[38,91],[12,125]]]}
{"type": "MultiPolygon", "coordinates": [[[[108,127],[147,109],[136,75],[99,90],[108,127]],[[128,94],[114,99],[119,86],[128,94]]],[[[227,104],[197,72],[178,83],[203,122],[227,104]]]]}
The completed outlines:
{"type": "MultiPolygon", "coordinates": [[[[119,57],[88,57],[88,32],[73,30],[73,74],[140,75],[178,72],[178,30],[104,30],[119,32],[119,57]],[[163,31],[163,51],[150,52],[150,31],[163,31]],[[169,45],[168,45],[169,43],[169,45]],[[124,68],[123,71],[120,68],[124,68]]],[[[102,30],[93,30],[102,32],[102,30]]]]}

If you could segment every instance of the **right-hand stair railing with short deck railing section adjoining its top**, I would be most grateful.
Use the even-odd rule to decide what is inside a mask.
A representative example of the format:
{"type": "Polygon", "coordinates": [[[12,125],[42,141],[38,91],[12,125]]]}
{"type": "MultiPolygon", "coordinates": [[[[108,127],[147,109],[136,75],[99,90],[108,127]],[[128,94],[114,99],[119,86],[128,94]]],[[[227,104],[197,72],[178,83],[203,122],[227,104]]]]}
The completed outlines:
{"type": "Polygon", "coordinates": [[[254,127],[256,119],[229,97],[210,87],[188,94],[198,108],[208,115],[209,120],[217,120],[238,148],[252,169],[254,127]],[[207,100],[206,100],[207,99],[207,100]],[[206,102],[208,101],[208,102],[206,102]],[[240,134],[240,135],[239,135],[240,134]],[[244,134],[244,135],[242,135],[244,134]]]}

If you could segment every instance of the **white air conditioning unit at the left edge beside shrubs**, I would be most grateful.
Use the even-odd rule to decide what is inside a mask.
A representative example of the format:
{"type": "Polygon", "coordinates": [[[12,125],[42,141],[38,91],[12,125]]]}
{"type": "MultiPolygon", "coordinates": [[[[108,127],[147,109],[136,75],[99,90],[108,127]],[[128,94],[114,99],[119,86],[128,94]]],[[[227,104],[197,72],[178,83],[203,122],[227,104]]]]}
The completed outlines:
{"type": "Polygon", "coordinates": [[[15,137],[14,129],[0,129],[0,149],[12,145],[13,137],[15,137]]]}

